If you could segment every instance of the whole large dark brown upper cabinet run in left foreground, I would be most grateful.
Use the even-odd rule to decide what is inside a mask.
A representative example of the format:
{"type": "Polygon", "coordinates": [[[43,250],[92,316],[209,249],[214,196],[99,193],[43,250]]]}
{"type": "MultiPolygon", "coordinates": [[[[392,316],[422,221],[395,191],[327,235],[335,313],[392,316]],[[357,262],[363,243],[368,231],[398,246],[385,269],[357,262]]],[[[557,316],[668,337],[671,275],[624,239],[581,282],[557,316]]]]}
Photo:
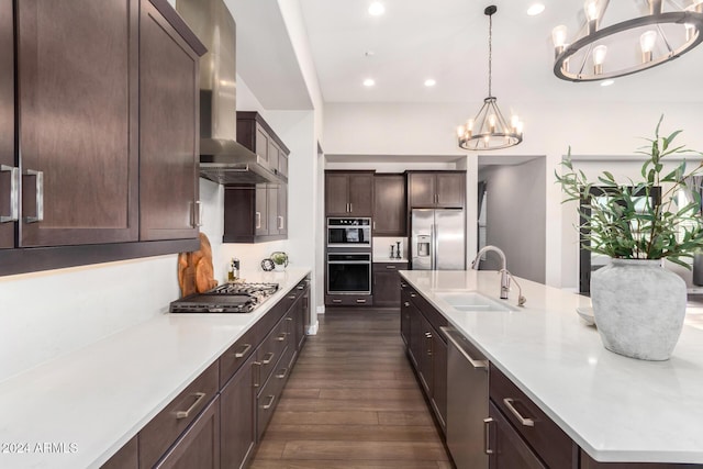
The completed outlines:
{"type": "Polygon", "coordinates": [[[168,0],[99,3],[0,0],[0,275],[199,245],[205,48],[168,0]]]}

